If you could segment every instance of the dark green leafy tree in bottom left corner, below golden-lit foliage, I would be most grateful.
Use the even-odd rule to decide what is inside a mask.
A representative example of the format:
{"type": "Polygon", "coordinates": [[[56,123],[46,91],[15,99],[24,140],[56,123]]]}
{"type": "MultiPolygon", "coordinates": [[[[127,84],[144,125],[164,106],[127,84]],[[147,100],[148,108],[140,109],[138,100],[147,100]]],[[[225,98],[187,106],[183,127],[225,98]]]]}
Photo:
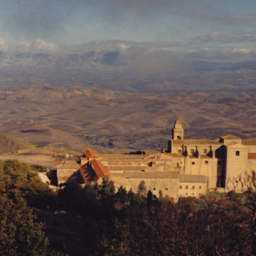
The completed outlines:
{"type": "Polygon", "coordinates": [[[35,219],[22,198],[14,203],[0,196],[0,255],[46,255],[48,240],[43,224],[35,223],[35,219]]]}

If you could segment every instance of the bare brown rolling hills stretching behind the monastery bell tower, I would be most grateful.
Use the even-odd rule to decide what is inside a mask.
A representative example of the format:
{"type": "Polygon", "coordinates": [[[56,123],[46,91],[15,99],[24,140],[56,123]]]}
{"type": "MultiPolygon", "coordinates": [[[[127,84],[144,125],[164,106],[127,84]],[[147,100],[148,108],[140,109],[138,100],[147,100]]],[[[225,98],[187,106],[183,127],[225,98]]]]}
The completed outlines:
{"type": "Polygon", "coordinates": [[[43,84],[0,92],[0,132],[39,146],[161,149],[177,117],[187,137],[256,137],[255,92],[122,93],[43,84]]]}

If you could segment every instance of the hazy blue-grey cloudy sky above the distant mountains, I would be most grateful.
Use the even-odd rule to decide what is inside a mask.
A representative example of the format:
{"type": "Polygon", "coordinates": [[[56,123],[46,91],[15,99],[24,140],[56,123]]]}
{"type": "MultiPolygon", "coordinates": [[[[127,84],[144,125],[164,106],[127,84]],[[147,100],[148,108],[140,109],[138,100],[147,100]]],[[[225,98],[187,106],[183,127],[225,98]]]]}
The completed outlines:
{"type": "Polygon", "coordinates": [[[58,44],[105,39],[218,41],[226,33],[230,43],[252,43],[256,35],[255,0],[0,0],[0,4],[0,38],[6,43],[31,43],[37,38],[58,44]],[[207,38],[208,34],[212,36],[207,38]]]}

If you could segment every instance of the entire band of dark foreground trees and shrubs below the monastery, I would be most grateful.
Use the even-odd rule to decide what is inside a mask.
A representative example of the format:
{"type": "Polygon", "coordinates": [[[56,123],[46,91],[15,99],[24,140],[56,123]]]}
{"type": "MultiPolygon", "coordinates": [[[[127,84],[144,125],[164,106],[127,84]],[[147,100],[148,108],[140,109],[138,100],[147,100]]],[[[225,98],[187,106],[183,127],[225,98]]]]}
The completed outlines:
{"type": "MultiPolygon", "coordinates": [[[[178,203],[161,191],[154,198],[144,182],[138,193],[122,186],[116,191],[108,177],[84,187],[70,181],[55,195],[37,174],[18,161],[0,162],[0,255],[47,255],[43,225],[26,205],[57,210],[45,211],[48,223],[63,228],[51,227],[50,250],[70,256],[256,255],[254,173],[240,179],[240,194],[178,203]],[[76,242],[66,242],[62,230],[76,242]]],[[[42,219],[43,211],[37,213],[42,219]]]]}

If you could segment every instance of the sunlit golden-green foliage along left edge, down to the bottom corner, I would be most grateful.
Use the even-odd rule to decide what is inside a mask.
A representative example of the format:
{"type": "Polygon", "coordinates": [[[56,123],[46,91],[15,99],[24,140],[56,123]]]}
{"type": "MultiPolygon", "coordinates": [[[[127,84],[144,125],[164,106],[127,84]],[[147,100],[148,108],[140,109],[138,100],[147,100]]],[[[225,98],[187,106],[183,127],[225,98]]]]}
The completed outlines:
{"type": "Polygon", "coordinates": [[[0,255],[43,256],[48,240],[43,224],[27,207],[46,208],[55,196],[30,166],[0,161],[0,255]]]}

